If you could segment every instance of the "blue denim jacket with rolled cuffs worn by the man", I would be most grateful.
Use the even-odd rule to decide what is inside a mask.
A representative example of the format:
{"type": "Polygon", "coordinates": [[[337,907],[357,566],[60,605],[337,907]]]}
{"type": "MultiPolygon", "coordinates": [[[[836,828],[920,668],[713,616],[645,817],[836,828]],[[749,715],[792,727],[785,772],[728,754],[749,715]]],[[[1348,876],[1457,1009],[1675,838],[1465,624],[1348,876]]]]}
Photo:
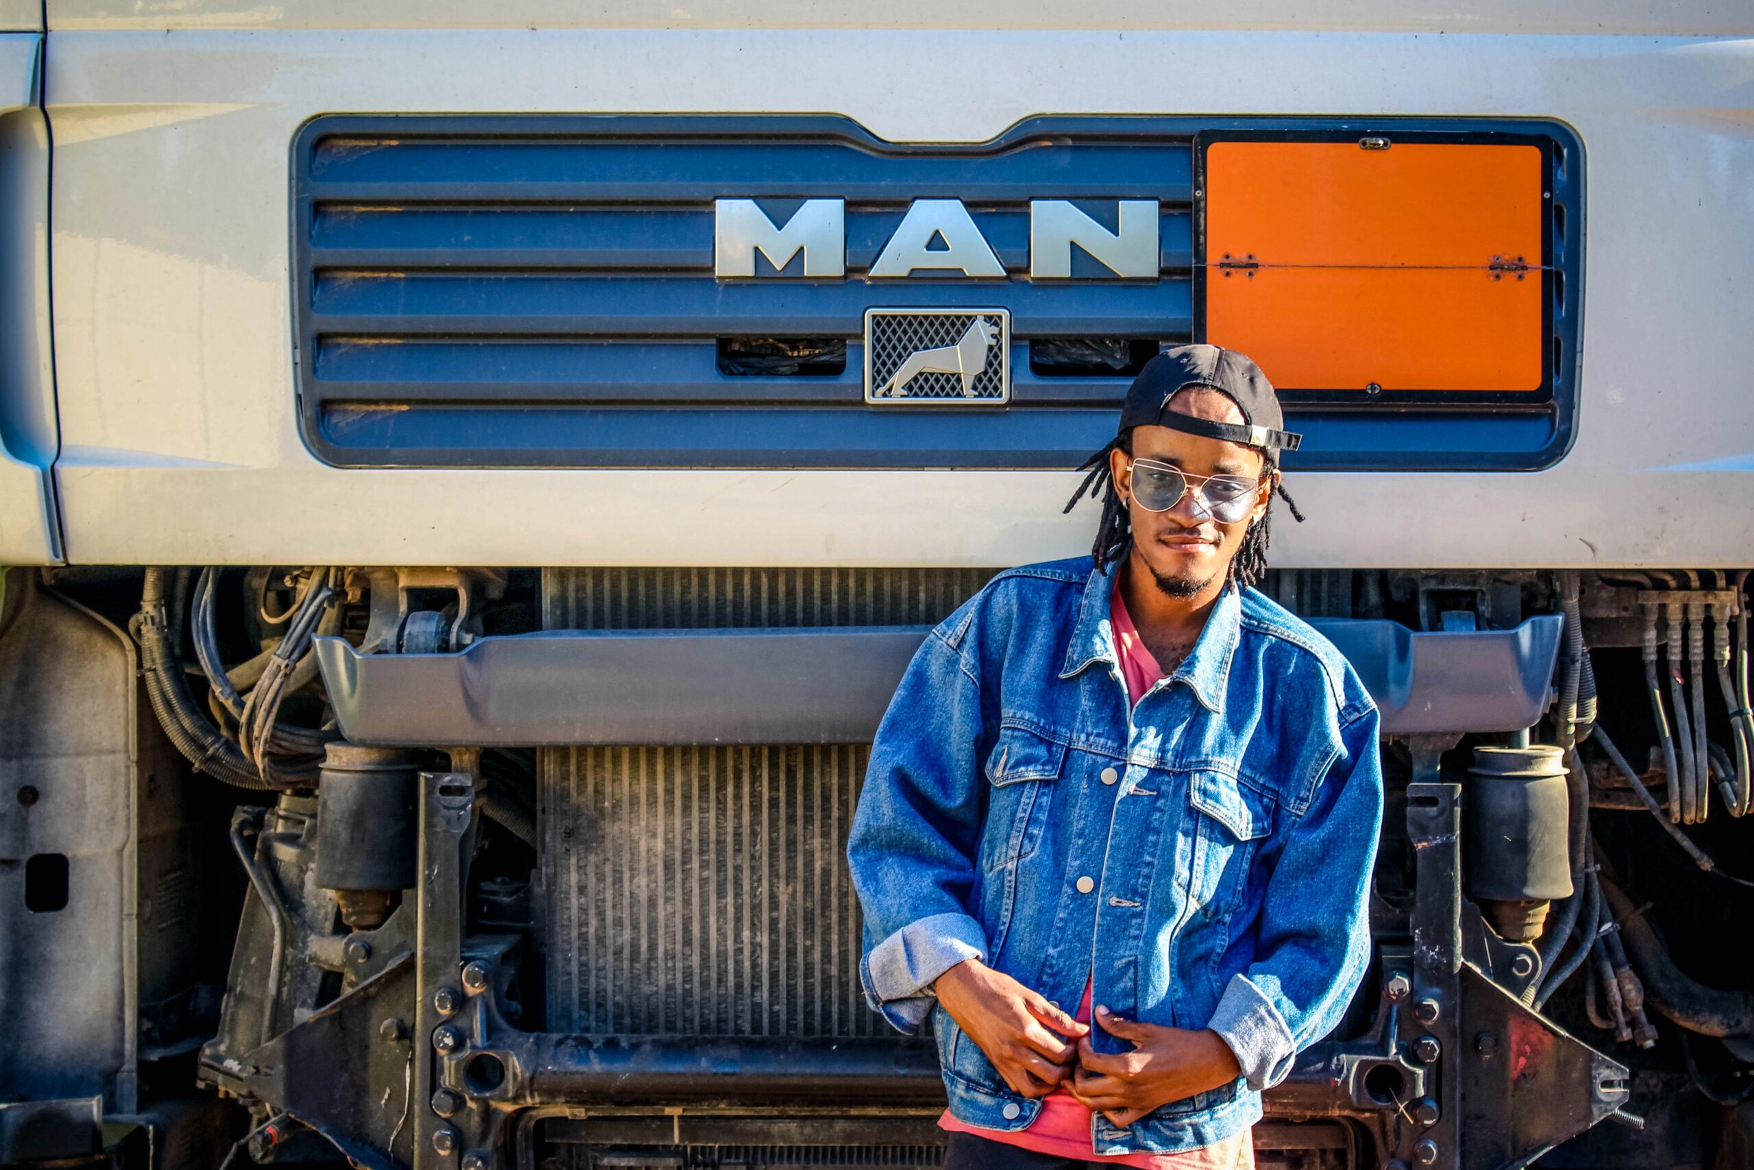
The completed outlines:
{"type": "MultiPolygon", "coordinates": [[[[1193,653],[1133,709],[1089,558],[1014,568],[914,656],[872,747],[847,856],[865,995],[933,1016],[951,1112],[1021,1130],[1012,1093],[931,982],[968,958],[1065,1009],[1212,1028],[1242,1075],[1096,1152],[1177,1152],[1261,1116],[1261,1089],[1345,1010],[1370,956],[1382,819],[1377,709],[1340,653],[1226,589],[1193,653]]],[[[1093,1024],[1094,1028],[1094,1024],[1093,1024]]],[[[1098,1051],[1131,1045],[1096,1028],[1098,1051]]]]}

